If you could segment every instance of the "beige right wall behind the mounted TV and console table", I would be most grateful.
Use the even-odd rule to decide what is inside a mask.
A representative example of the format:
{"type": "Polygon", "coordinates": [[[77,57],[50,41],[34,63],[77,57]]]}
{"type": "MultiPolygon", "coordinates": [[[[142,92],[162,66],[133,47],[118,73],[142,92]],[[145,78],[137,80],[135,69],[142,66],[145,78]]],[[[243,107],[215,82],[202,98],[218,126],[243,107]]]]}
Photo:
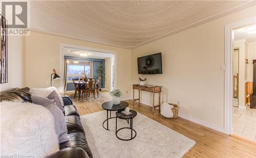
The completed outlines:
{"type": "MultiPolygon", "coordinates": [[[[180,113],[224,127],[224,25],[255,16],[255,6],[132,50],[132,83],[139,77],[163,86],[164,101],[180,101],[180,113]],[[163,74],[139,75],[137,58],[162,52],[163,74]]],[[[142,102],[150,103],[142,94],[142,102]]],[[[157,100],[156,100],[157,102],[157,100]]]]}

